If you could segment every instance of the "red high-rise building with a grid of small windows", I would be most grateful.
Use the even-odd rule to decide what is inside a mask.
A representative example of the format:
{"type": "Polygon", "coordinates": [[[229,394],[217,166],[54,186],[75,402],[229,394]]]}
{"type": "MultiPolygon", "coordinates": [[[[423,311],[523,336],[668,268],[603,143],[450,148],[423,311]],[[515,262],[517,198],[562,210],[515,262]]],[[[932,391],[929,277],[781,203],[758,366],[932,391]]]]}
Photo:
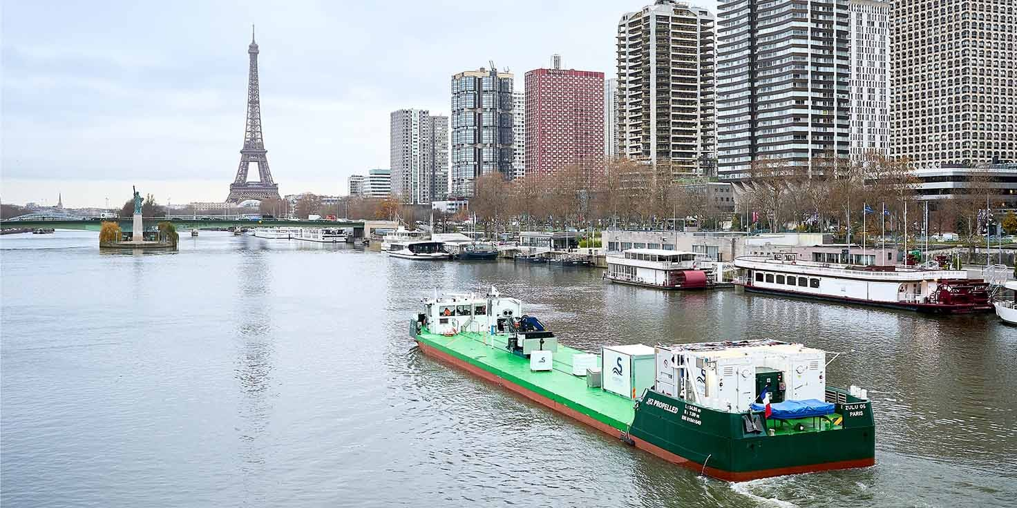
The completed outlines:
{"type": "Polygon", "coordinates": [[[525,86],[526,177],[579,165],[589,185],[602,180],[604,73],[534,69],[525,86]]]}

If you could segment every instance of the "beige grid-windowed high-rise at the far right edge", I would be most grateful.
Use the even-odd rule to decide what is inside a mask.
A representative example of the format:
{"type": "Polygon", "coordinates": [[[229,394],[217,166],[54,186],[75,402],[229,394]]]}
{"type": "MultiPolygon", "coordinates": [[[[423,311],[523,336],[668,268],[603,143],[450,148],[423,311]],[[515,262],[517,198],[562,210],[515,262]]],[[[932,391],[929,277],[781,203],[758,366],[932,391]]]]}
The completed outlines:
{"type": "Polygon", "coordinates": [[[1017,161],[1012,0],[893,2],[891,154],[916,169],[1017,161]]]}

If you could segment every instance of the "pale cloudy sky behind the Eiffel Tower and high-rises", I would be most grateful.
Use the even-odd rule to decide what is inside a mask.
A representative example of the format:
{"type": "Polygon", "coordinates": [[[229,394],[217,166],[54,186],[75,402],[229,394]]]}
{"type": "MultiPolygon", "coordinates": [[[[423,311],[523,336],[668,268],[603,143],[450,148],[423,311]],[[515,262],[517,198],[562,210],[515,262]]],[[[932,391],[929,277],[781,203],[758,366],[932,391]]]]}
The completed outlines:
{"type": "Polygon", "coordinates": [[[132,184],[161,203],[225,199],[251,23],[280,191],[339,194],[388,167],[390,112],[448,113],[455,72],[493,60],[521,77],[560,53],[613,77],[618,18],[645,3],[3,0],[0,199],[103,206],[132,184]]]}

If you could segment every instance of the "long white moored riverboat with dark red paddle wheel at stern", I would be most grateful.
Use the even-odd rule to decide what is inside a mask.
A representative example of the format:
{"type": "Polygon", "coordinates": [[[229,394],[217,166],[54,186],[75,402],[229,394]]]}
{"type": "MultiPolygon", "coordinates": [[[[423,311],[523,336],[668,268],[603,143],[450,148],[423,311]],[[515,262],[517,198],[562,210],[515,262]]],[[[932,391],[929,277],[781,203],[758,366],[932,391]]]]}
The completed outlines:
{"type": "Polygon", "coordinates": [[[741,256],[736,284],[746,291],[896,307],[922,312],[989,312],[989,283],[964,270],[913,266],[856,266],[741,256]]]}

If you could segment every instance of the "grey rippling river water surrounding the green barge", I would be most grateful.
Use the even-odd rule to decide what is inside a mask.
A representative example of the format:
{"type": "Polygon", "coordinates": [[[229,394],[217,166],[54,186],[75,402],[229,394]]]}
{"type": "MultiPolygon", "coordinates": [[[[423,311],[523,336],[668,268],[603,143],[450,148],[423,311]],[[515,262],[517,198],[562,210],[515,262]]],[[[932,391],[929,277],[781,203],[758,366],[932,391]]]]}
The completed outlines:
{"type": "MultiPolygon", "coordinates": [[[[201,232],[174,254],[0,237],[0,504],[1014,506],[1017,328],[605,284],[599,270],[413,262],[201,232]],[[422,356],[421,298],[517,296],[564,343],[777,338],[843,352],[877,465],[698,477],[422,356]]],[[[829,359],[830,357],[828,357],[829,359]]]]}

